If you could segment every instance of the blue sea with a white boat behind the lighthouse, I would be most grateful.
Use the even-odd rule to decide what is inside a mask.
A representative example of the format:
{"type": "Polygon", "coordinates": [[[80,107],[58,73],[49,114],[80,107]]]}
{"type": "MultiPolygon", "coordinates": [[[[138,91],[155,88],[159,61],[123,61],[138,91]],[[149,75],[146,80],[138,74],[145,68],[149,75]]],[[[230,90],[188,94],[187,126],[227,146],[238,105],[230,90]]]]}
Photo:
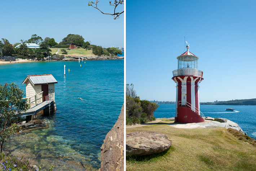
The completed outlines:
{"type": "MultiPolygon", "coordinates": [[[[160,104],[154,112],[155,118],[175,117],[176,104],[160,104]]],[[[237,123],[248,136],[256,139],[256,106],[252,105],[200,105],[200,111],[204,116],[213,118],[226,118],[237,123]],[[226,111],[226,108],[234,108],[235,111],[226,111]]]]}

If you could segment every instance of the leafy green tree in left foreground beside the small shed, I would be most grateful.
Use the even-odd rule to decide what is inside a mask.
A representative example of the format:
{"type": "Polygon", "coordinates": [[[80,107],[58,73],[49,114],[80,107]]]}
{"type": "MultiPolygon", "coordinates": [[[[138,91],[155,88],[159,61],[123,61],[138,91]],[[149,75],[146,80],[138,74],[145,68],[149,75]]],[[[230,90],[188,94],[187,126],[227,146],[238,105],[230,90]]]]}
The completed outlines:
{"type": "Polygon", "coordinates": [[[22,99],[25,95],[23,91],[15,83],[0,84],[0,153],[4,142],[18,129],[16,123],[20,121],[22,112],[29,107],[27,100],[22,99]]]}

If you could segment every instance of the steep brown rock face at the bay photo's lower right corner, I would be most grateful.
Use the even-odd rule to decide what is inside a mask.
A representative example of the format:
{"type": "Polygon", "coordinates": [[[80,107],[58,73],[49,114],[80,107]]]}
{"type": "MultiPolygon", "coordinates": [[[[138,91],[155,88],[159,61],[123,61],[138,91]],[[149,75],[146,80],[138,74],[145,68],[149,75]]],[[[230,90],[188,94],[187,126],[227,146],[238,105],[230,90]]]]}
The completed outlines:
{"type": "Polygon", "coordinates": [[[99,171],[124,170],[124,105],[112,129],[101,146],[101,168],[99,171]]]}

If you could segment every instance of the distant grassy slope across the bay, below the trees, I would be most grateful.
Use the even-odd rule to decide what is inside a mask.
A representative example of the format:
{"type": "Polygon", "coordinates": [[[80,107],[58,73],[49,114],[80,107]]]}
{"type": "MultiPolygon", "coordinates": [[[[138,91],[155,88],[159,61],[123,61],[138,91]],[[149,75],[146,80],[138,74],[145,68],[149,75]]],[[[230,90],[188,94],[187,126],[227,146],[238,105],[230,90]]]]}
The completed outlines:
{"type": "MultiPolygon", "coordinates": [[[[52,50],[52,54],[56,53],[58,48],[50,48],[52,50]]],[[[92,50],[87,50],[86,49],[67,49],[67,48],[60,48],[61,49],[65,49],[66,51],[68,51],[67,54],[62,54],[61,51],[59,51],[58,55],[65,55],[65,56],[71,56],[71,57],[79,57],[79,55],[81,57],[95,57],[95,55],[92,53],[92,50]]]]}

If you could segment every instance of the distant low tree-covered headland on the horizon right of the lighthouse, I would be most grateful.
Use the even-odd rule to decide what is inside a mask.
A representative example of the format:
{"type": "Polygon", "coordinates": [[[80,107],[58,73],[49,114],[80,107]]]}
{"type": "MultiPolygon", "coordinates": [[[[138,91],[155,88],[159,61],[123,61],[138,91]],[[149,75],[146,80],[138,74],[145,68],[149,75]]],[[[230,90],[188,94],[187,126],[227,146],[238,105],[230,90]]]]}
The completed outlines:
{"type": "Polygon", "coordinates": [[[200,104],[211,104],[211,105],[256,105],[256,99],[242,99],[242,100],[229,100],[229,101],[218,101],[215,102],[204,102],[200,104]]]}

